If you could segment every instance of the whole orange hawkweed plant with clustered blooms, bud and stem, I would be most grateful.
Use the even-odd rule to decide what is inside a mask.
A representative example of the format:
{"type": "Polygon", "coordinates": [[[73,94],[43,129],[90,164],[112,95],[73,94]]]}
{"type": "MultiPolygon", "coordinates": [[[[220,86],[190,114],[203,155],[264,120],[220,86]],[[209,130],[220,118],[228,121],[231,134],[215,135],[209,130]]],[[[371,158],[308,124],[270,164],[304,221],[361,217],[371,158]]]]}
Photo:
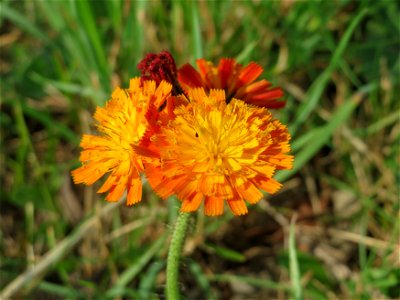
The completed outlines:
{"type": "Polygon", "coordinates": [[[247,203],[281,188],[273,176],[290,169],[290,134],[269,109],[285,106],[283,92],[265,79],[263,68],[223,58],[177,69],[172,55],[148,54],[141,77],[117,88],[94,119],[98,135],[83,135],[75,183],[91,185],[108,174],[98,193],[127,204],[141,201],[141,176],[163,199],[182,202],[170,243],[166,296],[178,299],[179,257],[191,212],[220,216],[225,204],[236,215],[247,203]]]}

